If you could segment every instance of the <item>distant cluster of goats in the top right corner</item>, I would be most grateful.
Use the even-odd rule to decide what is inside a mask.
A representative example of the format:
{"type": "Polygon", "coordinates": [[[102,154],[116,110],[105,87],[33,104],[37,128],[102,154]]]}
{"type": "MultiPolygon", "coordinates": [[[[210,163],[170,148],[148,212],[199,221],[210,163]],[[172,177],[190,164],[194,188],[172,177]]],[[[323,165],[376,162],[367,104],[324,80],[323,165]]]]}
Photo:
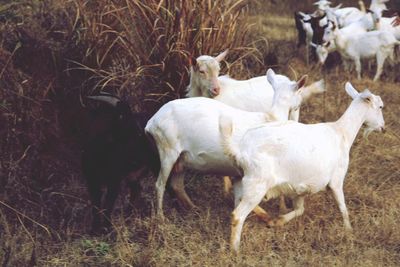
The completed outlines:
{"type": "Polygon", "coordinates": [[[338,51],[345,70],[354,62],[358,79],[361,59],[376,58],[374,81],[379,80],[386,59],[395,63],[395,47],[400,44],[395,17],[383,16],[388,1],[371,0],[369,9],[363,1],[359,1],[360,9],[341,5],[332,8],[329,1],[318,1],[313,14],[295,12],[298,46],[306,45],[307,60],[310,46],[315,48],[320,64],[325,63],[329,53],[338,51]]]}

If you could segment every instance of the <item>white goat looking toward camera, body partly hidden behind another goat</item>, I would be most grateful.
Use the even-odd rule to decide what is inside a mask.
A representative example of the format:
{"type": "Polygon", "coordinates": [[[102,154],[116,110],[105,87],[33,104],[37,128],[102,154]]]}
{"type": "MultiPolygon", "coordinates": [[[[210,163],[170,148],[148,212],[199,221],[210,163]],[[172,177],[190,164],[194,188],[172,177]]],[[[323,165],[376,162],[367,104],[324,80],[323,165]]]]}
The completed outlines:
{"type": "MultiPolygon", "coordinates": [[[[187,87],[187,97],[212,97],[234,108],[269,112],[271,110],[274,90],[267,77],[259,76],[248,80],[235,80],[228,76],[219,76],[219,63],[224,59],[227,50],[217,57],[203,55],[193,60],[190,68],[190,83],[187,87]]],[[[275,75],[281,82],[289,82],[284,75],[275,75]]],[[[324,81],[320,80],[301,90],[302,101],[312,94],[325,91],[324,81]]],[[[299,109],[290,110],[291,120],[299,119],[299,109]]]]}

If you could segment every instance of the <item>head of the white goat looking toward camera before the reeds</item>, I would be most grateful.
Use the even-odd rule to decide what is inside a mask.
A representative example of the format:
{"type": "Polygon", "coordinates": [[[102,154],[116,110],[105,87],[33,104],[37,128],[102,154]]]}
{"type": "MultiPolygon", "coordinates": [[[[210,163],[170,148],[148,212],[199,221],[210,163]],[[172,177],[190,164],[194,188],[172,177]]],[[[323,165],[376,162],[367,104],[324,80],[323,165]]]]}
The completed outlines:
{"type": "Polygon", "coordinates": [[[227,53],[228,50],[225,50],[216,57],[203,55],[192,60],[188,96],[215,97],[219,95],[221,89],[218,82],[219,64],[227,53]]]}

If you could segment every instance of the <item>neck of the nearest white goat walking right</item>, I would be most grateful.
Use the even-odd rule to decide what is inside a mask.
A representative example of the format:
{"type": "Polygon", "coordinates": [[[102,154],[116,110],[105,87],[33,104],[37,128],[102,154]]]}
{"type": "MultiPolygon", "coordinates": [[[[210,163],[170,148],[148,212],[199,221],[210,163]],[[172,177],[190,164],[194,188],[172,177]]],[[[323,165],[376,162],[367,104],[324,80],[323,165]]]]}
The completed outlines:
{"type": "Polygon", "coordinates": [[[366,112],[366,106],[359,100],[354,100],[339,120],[334,123],[335,129],[342,136],[348,150],[350,150],[358,131],[365,121],[366,112]]]}

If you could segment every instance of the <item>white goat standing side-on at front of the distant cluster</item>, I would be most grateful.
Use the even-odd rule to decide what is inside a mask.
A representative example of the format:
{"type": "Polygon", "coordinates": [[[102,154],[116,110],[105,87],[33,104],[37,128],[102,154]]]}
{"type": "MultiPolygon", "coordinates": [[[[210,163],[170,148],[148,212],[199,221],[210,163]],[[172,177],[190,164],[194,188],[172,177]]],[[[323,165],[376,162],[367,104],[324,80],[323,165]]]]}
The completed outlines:
{"type": "Polygon", "coordinates": [[[379,80],[387,57],[394,60],[394,47],[399,44],[393,34],[386,31],[371,31],[356,35],[344,35],[336,26],[327,30],[330,40],[335,42],[343,60],[352,60],[357,78],[361,79],[361,59],[376,58],[377,70],[374,81],[379,80]]]}

